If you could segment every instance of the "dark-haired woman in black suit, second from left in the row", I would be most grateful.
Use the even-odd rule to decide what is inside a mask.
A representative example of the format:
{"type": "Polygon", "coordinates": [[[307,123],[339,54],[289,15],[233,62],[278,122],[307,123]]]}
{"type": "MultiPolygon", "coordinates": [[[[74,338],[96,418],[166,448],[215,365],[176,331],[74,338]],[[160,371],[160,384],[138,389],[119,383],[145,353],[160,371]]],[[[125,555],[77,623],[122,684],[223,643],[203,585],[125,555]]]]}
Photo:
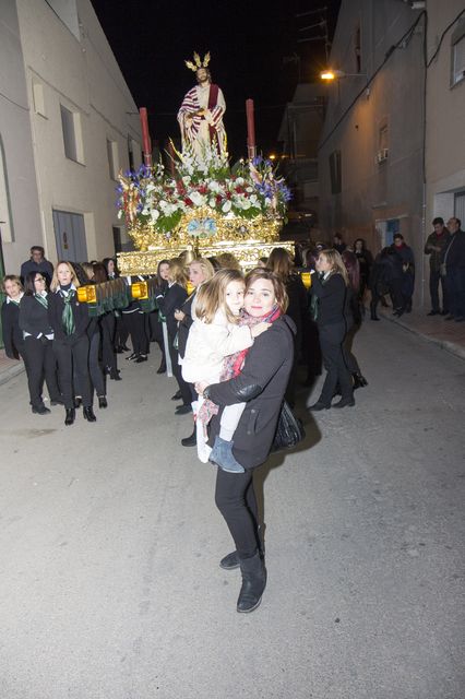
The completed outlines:
{"type": "Polygon", "coordinates": [[[46,415],[49,408],[41,398],[44,378],[51,405],[62,405],[53,354],[53,330],[48,320],[47,281],[41,272],[29,272],[20,304],[20,328],[24,336],[27,383],[33,413],[46,415]]]}

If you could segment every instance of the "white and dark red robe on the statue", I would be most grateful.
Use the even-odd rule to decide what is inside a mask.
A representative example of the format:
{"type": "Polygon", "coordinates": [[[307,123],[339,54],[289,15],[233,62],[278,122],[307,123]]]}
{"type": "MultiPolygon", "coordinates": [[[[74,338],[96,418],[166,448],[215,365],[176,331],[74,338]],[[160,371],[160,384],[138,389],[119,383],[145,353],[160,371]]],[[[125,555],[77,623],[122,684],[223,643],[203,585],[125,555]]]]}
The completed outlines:
{"type": "Polygon", "coordinates": [[[226,111],[226,102],[218,85],[195,85],[190,90],[178,111],[178,121],[181,128],[182,150],[191,147],[198,159],[202,161],[205,153],[215,143],[219,153],[226,153],[226,131],[223,125],[223,115],[226,111]],[[198,115],[204,109],[204,115],[198,115]],[[187,119],[188,115],[192,119],[187,119]]]}

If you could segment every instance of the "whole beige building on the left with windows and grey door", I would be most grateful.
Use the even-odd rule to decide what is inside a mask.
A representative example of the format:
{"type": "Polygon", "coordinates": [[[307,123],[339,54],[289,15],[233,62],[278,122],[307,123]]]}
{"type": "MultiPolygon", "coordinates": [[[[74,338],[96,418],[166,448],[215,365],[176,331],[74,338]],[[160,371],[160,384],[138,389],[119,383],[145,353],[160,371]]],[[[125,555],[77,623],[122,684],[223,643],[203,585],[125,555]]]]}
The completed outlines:
{"type": "Polygon", "coordinates": [[[11,55],[1,42],[2,67],[12,63],[14,75],[22,68],[22,82],[14,80],[20,106],[0,97],[0,125],[13,108],[21,117],[12,115],[8,129],[0,126],[11,210],[2,229],[5,271],[17,272],[34,244],[52,262],[112,256],[127,240],[115,206],[117,176],[141,164],[141,131],[92,4],[4,0],[0,15],[0,31],[13,26],[15,48],[11,55]]]}

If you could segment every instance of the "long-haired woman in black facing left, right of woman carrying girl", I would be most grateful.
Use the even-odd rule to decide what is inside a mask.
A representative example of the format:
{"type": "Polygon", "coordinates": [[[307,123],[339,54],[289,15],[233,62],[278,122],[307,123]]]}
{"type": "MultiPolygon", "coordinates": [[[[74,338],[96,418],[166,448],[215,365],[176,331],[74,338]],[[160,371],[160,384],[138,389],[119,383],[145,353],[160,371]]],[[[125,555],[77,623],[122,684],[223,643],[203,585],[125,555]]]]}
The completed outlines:
{"type": "Polygon", "coordinates": [[[349,279],[337,250],[322,250],[315,262],[310,293],[320,335],[323,364],[327,371],[320,398],[311,411],[355,405],[354,384],[344,351],[344,340],[354,324],[350,311],[349,279]],[[336,387],[342,398],[331,404],[336,387]]]}

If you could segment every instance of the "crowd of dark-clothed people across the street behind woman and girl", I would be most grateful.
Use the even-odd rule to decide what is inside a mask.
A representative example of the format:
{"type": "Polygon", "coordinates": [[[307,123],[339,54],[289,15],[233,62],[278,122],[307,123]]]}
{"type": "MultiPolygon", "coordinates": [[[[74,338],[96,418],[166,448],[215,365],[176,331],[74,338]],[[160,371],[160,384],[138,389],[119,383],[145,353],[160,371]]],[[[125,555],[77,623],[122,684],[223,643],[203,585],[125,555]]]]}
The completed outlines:
{"type": "MultiPolygon", "coordinates": [[[[428,316],[442,315],[445,320],[460,322],[465,320],[465,233],[456,217],[451,217],[446,226],[439,217],[432,224],[433,232],[425,245],[425,253],[430,261],[431,310],[428,316]]],[[[398,233],[394,235],[393,244],[374,257],[362,238],[346,245],[336,234],[331,244],[297,245],[295,259],[284,248],[276,248],[269,259],[258,260],[258,266],[270,269],[284,283],[288,296],[287,315],[296,327],[295,360],[286,390],[290,405],[295,401],[297,368],[306,368],[306,383],[309,386],[321,372],[322,362],[327,368],[329,345],[324,340],[322,342],[325,331],[322,333],[321,318],[324,318],[324,308],[330,303],[329,288],[336,286],[334,279],[326,284],[329,277],[341,277],[344,282],[339,284],[338,300],[334,301],[341,307],[338,322],[344,320],[345,323],[344,329],[341,325],[339,335],[343,336],[338,336],[336,342],[339,347],[336,364],[339,372],[344,367],[348,368],[353,388],[365,384],[350,353],[350,342],[362,320],[366,301],[369,299],[373,321],[379,320],[378,306],[389,305],[386,299],[391,299],[396,316],[412,310],[415,259],[412,248],[398,233]],[[321,269],[321,264],[329,260],[330,273],[321,269]],[[310,293],[302,283],[299,273],[302,271],[315,273],[310,293]],[[317,287],[320,289],[319,298],[317,287]]],[[[34,246],[31,258],[21,266],[20,275],[4,277],[7,298],[1,309],[5,353],[11,358],[24,359],[33,412],[50,412],[43,400],[45,380],[50,403],[65,407],[67,425],[74,422],[75,410],[80,405],[84,417],[94,422],[94,395],[100,408],[107,407],[106,382],[108,379],[121,379],[118,356],[126,353],[128,362],[146,362],[151,343],[156,343],[160,350],[162,362],[157,372],[168,371],[177,380],[178,391],[174,399],[180,404],[176,413],[191,412],[195,396],[181,372],[191,306],[196,289],[218,269],[240,270],[240,264],[227,252],[210,259],[187,261],[182,254],[172,260],[162,260],[156,274],[155,310],[144,312],[140,301],[133,299],[126,308],[91,318],[86,305],[79,303],[76,289],[82,285],[118,279],[116,260],[106,258],[102,262],[80,264],[62,261],[53,269],[45,258],[44,249],[34,246]]],[[[143,279],[132,276],[126,281],[133,284],[143,279]]],[[[335,322],[334,318],[331,322],[335,322]]],[[[347,372],[343,374],[343,383],[347,387],[347,372]]],[[[332,396],[341,389],[338,377],[332,396]]],[[[351,400],[353,395],[349,403],[351,400]]],[[[323,402],[327,404],[327,395],[323,402]]],[[[188,445],[193,440],[194,435],[183,441],[188,445]]]]}

